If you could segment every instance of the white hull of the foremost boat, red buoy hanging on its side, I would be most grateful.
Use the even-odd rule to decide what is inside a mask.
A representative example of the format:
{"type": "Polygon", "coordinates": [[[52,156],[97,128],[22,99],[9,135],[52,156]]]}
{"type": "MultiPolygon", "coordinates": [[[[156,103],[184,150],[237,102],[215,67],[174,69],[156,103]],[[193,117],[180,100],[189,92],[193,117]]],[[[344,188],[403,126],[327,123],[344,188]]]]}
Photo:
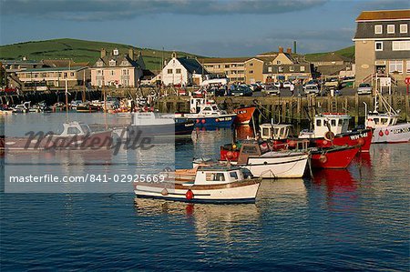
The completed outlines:
{"type": "Polygon", "coordinates": [[[173,183],[136,183],[134,185],[134,193],[137,197],[160,198],[189,203],[254,203],[260,185],[261,180],[259,179],[248,179],[241,182],[209,186],[184,186],[173,183]],[[189,190],[193,194],[193,197],[190,199],[186,196],[189,190]]]}

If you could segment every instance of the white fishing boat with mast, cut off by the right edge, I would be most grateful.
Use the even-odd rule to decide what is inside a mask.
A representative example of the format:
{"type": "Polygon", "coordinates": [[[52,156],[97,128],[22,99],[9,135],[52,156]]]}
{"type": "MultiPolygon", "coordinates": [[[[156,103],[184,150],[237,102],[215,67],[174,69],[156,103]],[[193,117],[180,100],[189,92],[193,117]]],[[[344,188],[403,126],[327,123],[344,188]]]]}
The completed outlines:
{"type": "Polygon", "coordinates": [[[365,103],[364,106],[366,112],[364,125],[374,128],[372,143],[407,143],[410,141],[410,123],[397,124],[398,112],[387,103],[378,91],[374,96],[374,111],[367,113],[365,103]],[[377,97],[387,109],[385,113],[378,112],[377,97]]]}

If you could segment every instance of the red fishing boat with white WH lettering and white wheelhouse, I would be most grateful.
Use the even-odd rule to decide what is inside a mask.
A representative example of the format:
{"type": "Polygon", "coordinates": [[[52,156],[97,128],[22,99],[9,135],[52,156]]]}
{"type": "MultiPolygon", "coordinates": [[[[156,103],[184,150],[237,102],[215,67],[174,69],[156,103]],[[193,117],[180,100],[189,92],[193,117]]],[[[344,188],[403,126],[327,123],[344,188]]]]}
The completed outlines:
{"type": "Polygon", "coordinates": [[[373,130],[348,131],[349,119],[350,116],[339,113],[314,116],[313,131],[303,130],[299,138],[309,139],[311,146],[360,146],[362,152],[369,152],[373,130]]]}

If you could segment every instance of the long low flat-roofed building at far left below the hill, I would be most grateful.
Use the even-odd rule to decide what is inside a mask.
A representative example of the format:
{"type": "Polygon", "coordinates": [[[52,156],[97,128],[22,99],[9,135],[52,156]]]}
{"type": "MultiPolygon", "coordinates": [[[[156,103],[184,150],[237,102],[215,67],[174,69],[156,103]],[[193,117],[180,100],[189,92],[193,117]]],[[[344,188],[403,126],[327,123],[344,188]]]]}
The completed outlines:
{"type": "Polygon", "coordinates": [[[28,68],[15,72],[19,80],[27,87],[34,86],[83,86],[90,79],[88,67],[44,67],[28,68]]]}

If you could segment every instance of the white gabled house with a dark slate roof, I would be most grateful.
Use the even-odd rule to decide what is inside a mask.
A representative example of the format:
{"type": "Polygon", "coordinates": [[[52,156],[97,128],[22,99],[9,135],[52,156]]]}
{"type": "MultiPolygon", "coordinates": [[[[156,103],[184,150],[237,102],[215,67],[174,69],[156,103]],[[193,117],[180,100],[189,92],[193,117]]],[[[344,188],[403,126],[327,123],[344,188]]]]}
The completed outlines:
{"type": "Polygon", "coordinates": [[[160,78],[165,86],[200,85],[203,77],[208,75],[200,62],[195,58],[177,57],[175,52],[172,58],[162,68],[160,78]]]}

